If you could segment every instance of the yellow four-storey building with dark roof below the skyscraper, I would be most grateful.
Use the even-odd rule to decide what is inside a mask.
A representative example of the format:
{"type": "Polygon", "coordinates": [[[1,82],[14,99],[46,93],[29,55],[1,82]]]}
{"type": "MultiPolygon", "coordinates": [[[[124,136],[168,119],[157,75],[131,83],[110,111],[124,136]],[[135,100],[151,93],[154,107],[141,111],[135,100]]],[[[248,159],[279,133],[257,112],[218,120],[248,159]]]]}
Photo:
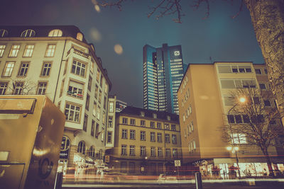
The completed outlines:
{"type": "Polygon", "coordinates": [[[182,159],[178,115],[128,106],[116,114],[111,165],[133,175],[176,171],[182,159]]]}

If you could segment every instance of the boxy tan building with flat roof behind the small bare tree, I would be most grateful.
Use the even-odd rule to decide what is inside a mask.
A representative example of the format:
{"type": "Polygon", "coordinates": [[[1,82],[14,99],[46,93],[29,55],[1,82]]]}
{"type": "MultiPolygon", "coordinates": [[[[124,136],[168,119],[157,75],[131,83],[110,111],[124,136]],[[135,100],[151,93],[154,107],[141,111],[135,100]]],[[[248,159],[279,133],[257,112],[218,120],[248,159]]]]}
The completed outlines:
{"type": "MultiPolygon", "coordinates": [[[[263,175],[268,173],[266,160],[258,147],[239,142],[239,151],[228,151],[222,141],[219,127],[228,125],[227,114],[234,106],[230,103],[232,91],[251,87],[268,91],[266,67],[252,62],[214,62],[214,64],[190,64],[178,90],[182,156],[185,165],[200,166],[204,175],[219,170],[219,176],[228,178],[229,166],[236,166],[239,159],[241,176],[249,168],[263,175]],[[215,169],[215,170],[214,170],[215,169]]],[[[268,91],[269,93],[270,91],[268,91]]],[[[263,99],[275,105],[273,97],[263,99]]],[[[234,116],[234,115],[232,115],[234,116]]],[[[278,122],[280,124],[280,122],[278,122]]],[[[268,149],[276,156],[275,147],[268,149]]],[[[274,160],[274,162],[278,162],[274,160]]],[[[275,163],[277,164],[277,163],[275,163]]],[[[284,171],[283,164],[278,165],[284,171]]],[[[251,171],[253,173],[253,171],[251,171]]],[[[260,176],[260,175],[259,175],[260,176]]]]}

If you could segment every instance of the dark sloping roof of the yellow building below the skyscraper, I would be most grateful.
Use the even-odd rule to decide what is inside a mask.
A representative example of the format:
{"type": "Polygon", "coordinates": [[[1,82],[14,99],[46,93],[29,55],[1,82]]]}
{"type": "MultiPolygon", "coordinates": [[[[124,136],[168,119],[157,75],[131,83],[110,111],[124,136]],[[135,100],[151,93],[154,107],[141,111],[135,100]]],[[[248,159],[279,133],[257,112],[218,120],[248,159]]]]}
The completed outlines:
{"type": "Polygon", "coordinates": [[[171,121],[179,122],[179,115],[167,112],[160,112],[155,110],[146,110],[143,108],[136,108],[133,106],[127,106],[124,110],[121,110],[118,114],[129,114],[129,115],[138,115],[141,116],[140,113],[144,112],[143,118],[153,118],[153,113],[157,114],[157,119],[160,120],[168,120],[167,116],[170,116],[171,121]]]}

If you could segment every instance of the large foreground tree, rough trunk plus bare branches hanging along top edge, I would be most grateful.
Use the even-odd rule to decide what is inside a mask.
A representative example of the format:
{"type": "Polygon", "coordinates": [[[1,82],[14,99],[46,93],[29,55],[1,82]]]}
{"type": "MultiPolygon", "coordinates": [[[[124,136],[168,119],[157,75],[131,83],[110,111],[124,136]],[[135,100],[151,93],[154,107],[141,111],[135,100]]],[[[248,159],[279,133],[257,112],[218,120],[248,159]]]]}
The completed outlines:
{"type": "MultiPolygon", "coordinates": [[[[115,6],[121,11],[127,0],[92,0],[99,6],[115,6]]],[[[133,0],[132,0],[133,1],[133,0]]],[[[224,0],[233,2],[234,0],[224,0]]],[[[280,117],[284,122],[284,0],[239,0],[239,15],[244,5],[249,9],[251,22],[256,33],[256,40],[268,66],[268,76],[272,81],[273,94],[277,100],[280,117]]],[[[176,23],[182,23],[182,4],[185,2],[193,8],[199,8],[204,4],[207,7],[205,17],[209,16],[210,3],[212,0],[159,0],[152,1],[148,17],[154,16],[158,19],[163,16],[175,15],[176,23]]]]}

